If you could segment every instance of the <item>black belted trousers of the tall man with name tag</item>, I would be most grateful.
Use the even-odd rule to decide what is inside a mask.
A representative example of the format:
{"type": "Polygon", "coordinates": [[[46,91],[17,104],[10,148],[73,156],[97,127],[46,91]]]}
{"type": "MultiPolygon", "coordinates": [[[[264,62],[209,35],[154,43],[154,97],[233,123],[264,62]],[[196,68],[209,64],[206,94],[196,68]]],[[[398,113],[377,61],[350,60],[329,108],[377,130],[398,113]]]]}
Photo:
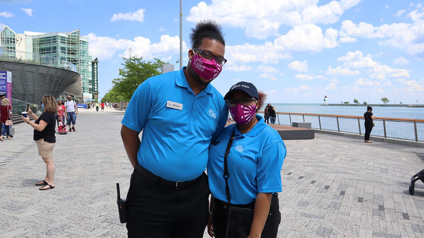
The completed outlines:
{"type": "Polygon", "coordinates": [[[128,238],[202,238],[208,207],[205,173],[191,187],[176,189],[134,170],[127,194],[128,238]]]}

